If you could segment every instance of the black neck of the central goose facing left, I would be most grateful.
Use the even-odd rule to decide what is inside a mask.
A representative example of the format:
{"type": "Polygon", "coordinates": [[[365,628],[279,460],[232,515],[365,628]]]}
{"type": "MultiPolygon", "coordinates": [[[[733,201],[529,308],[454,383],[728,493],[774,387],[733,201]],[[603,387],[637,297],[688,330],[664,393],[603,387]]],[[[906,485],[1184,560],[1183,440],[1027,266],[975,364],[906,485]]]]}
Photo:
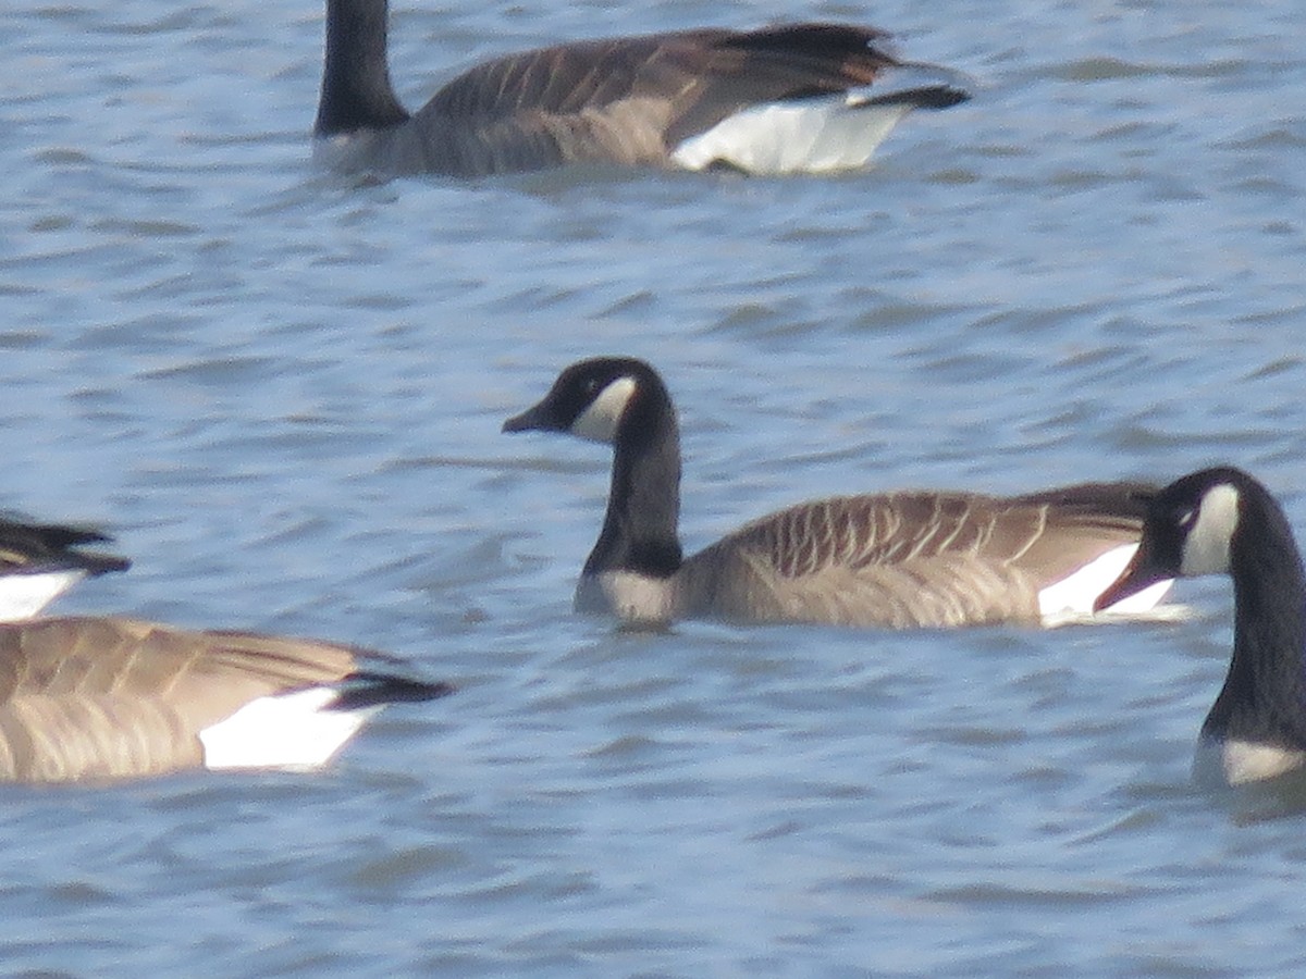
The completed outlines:
{"type": "Polygon", "coordinates": [[[665,578],[680,567],[680,433],[665,389],[641,385],[616,429],[613,486],[585,574],[665,578]]]}

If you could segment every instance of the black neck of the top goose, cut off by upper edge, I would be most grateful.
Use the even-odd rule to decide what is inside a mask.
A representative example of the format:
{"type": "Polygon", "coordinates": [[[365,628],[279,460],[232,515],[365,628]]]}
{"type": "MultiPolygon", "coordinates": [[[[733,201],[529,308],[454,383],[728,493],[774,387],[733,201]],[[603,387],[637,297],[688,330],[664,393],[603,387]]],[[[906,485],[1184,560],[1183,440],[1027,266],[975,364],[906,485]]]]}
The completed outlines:
{"type": "Polygon", "coordinates": [[[407,120],[385,63],[387,0],[326,0],[326,64],[317,136],[385,129],[407,120]]]}

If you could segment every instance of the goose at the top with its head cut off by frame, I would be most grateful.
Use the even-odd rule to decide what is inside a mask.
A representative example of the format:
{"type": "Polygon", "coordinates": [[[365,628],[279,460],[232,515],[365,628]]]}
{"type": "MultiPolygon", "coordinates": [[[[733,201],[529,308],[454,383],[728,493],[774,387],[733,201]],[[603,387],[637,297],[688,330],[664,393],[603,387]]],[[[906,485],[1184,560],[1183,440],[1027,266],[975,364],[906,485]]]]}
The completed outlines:
{"type": "Polygon", "coordinates": [[[329,166],[468,178],[568,163],[831,172],[863,166],[913,108],[969,98],[957,73],[895,57],[884,31],[786,23],[508,55],[410,115],[390,85],[387,20],[387,0],[326,0],[313,145],[329,166]]]}

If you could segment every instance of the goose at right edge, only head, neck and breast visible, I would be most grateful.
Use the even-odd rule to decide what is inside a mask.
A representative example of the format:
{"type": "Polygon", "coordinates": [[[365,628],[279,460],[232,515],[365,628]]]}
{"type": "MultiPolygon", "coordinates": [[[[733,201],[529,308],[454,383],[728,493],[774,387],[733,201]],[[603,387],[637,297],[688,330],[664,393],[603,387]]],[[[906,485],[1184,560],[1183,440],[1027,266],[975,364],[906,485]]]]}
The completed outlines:
{"type": "Polygon", "coordinates": [[[1098,602],[1158,578],[1233,578],[1233,658],[1202,724],[1194,777],[1237,786],[1306,764],[1306,574],[1288,518],[1246,473],[1204,469],[1148,500],[1143,543],[1098,602]]]}

